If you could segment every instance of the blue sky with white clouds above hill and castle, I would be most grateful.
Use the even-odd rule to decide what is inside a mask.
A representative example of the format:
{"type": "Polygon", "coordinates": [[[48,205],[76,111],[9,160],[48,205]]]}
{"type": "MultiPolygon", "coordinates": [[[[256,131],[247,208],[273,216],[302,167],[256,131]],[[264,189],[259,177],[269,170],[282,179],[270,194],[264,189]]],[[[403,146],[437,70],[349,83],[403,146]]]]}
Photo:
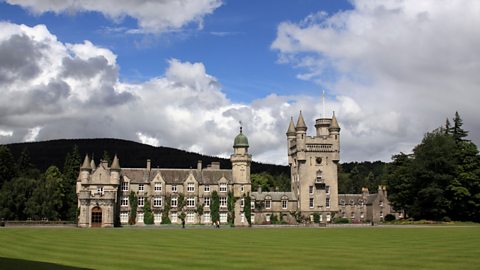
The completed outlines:
{"type": "Polygon", "coordinates": [[[478,145],[479,48],[476,0],[0,0],[0,144],[228,157],[242,121],[286,164],[301,110],[309,135],[335,111],[342,162],[410,153],[455,111],[478,145]]]}

